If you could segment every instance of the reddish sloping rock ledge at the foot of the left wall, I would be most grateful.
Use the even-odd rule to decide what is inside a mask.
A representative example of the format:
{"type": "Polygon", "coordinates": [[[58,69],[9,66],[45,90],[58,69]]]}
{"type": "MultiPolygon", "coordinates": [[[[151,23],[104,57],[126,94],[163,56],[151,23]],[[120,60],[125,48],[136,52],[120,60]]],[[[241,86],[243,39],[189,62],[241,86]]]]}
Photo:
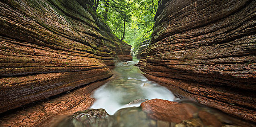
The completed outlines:
{"type": "Polygon", "coordinates": [[[49,127],[56,123],[56,119],[51,118],[58,119],[62,115],[72,115],[74,112],[89,108],[94,102],[94,98],[91,98],[92,91],[110,79],[4,112],[0,117],[0,127],[49,127]]]}

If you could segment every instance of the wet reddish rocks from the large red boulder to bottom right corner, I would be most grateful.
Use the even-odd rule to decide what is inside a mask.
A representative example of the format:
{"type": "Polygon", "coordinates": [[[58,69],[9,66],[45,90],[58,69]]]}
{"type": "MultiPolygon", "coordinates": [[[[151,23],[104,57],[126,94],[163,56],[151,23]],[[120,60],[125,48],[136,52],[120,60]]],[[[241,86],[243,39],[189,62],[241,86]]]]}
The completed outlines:
{"type": "Polygon", "coordinates": [[[228,124],[241,127],[256,126],[186,99],[177,102],[152,99],[141,103],[141,108],[149,118],[168,122],[175,127],[222,127],[228,124]]]}

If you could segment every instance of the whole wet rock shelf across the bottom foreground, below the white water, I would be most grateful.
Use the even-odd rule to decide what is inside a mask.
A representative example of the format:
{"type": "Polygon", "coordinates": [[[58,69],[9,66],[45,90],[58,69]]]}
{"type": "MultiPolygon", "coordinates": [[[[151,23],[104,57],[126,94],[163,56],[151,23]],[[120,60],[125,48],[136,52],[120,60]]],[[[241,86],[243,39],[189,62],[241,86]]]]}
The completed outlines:
{"type": "Polygon", "coordinates": [[[224,114],[218,112],[212,114],[213,109],[194,104],[194,102],[178,103],[153,99],[143,102],[141,107],[122,108],[113,115],[108,115],[103,109],[88,109],[76,112],[53,127],[255,127],[246,122],[239,123],[235,118],[232,118],[234,121],[229,119],[228,122],[220,122],[223,120],[219,120],[220,118],[215,114],[224,114]],[[149,106],[151,107],[148,108],[149,106]],[[160,109],[161,106],[167,108],[160,109]],[[157,114],[158,112],[162,115],[157,114]],[[237,122],[239,125],[232,122],[237,122]]]}

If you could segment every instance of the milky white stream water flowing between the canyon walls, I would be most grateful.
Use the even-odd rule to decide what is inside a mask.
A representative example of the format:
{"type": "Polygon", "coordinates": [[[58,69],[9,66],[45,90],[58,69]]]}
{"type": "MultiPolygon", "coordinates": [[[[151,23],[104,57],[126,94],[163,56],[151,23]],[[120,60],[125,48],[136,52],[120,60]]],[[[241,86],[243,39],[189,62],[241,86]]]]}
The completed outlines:
{"type": "Polygon", "coordinates": [[[142,71],[134,65],[137,62],[135,59],[128,64],[121,62],[116,65],[113,70],[115,78],[94,91],[93,98],[96,101],[91,108],[103,108],[108,114],[113,115],[121,108],[139,107],[141,103],[127,105],[139,98],[178,100],[170,90],[144,77],[142,71]]]}

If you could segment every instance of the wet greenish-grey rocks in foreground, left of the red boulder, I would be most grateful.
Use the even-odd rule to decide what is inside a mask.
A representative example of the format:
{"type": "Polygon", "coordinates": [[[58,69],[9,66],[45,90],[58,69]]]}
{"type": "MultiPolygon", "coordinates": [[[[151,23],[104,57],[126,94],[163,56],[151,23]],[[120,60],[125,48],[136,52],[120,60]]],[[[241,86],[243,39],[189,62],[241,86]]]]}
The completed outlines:
{"type": "MultiPolygon", "coordinates": [[[[76,119],[71,117],[55,127],[156,127],[156,122],[147,118],[146,113],[140,107],[123,108],[110,116],[105,115],[105,110],[89,110],[93,110],[89,115],[92,121],[84,118],[86,116],[74,114],[76,119]],[[97,114],[104,114],[104,116],[98,117],[97,114]]],[[[88,110],[82,112],[88,112],[88,110]]],[[[76,112],[76,114],[81,114],[81,112],[76,112]]]]}

